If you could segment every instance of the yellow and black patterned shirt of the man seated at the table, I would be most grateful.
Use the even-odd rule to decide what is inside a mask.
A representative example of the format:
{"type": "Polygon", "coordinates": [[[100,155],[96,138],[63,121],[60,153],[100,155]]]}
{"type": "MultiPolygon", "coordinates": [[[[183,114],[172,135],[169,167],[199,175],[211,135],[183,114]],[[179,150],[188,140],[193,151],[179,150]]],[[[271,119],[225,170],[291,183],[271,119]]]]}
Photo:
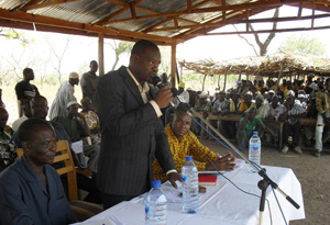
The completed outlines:
{"type": "MultiPolygon", "coordinates": [[[[167,126],[165,127],[165,133],[168,138],[175,168],[178,172],[182,171],[182,168],[186,162],[186,156],[193,156],[194,162],[197,169],[200,171],[206,169],[206,164],[207,164],[206,161],[208,161],[202,153],[205,153],[212,161],[218,159],[217,154],[211,151],[208,147],[204,146],[193,132],[189,131],[189,134],[193,137],[193,139],[197,143],[197,145],[199,146],[202,153],[200,153],[195,142],[190,139],[190,136],[188,134],[185,134],[182,140],[178,142],[178,139],[176,138],[175,134],[170,128],[170,124],[167,124],[167,126]]],[[[161,168],[157,159],[154,160],[153,167],[154,167],[154,180],[161,180],[162,182],[166,181],[167,177],[164,173],[163,169],[161,168]]]]}

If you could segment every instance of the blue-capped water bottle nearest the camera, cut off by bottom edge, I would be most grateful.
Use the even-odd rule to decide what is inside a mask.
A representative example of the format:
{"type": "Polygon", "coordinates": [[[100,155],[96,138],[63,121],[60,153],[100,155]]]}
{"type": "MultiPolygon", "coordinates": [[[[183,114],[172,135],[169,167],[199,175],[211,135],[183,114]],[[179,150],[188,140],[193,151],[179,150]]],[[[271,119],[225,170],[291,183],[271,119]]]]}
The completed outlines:
{"type": "Polygon", "coordinates": [[[161,189],[161,181],[154,180],[145,199],[145,224],[163,225],[167,221],[167,200],[161,189]]]}

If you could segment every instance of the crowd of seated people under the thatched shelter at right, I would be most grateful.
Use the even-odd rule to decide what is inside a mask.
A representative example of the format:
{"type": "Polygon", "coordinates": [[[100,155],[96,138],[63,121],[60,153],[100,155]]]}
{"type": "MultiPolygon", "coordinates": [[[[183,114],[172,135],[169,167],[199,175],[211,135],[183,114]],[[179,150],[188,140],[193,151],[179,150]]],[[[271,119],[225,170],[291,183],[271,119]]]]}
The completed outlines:
{"type": "MultiPolygon", "coordinates": [[[[241,80],[235,88],[226,92],[216,91],[212,95],[207,91],[189,90],[189,103],[223,136],[235,139],[241,150],[248,148],[246,139],[249,140],[253,131],[261,132],[260,136],[265,143],[279,145],[280,122],[283,143],[279,147],[283,154],[290,149],[302,154],[301,144],[304,144],[314,147],[312,155],[319,157],[323,143],[330,137],[327,128],[327,125],[330,125],[328,94],[330,81],[314,78],[312,74],[308,75],[305,83],[304,80],[298,79],[294,81],[282,79],[278,88],[276,88],[277,80],[267,79],[266,83],[262,79],[254,83],[250,80],[241,80]],[[212,117],[219,115],[220,120],[209,120],[210,114],[212,117]],[[237,114],[240,117],[237,121],[227,120],[226,116],[229,114],[237,114]],[[300,117],[317,120],[317,124],[301,126],[300,117]],[[245,136],[246,138],[243,138],[245,136]]],[[[167,121],[164,125],[168,123],[167,121]]],[[[212,139],[215,133],[208,128],[212,134],[208,135],[199,124],[202,124],[201,121],[195,116],[193,132],[204,139],[212,139]]]]}

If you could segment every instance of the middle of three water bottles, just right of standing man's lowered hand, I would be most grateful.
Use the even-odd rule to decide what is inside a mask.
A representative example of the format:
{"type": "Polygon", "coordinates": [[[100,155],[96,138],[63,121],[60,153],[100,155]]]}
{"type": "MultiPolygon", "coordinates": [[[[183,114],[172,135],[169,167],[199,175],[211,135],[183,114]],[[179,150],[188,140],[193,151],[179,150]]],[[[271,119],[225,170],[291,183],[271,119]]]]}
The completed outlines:
{"type": "Polygon", "coordinates": [[[186,162],[183,167],[183,211],[184,213],[197,213],[199,207],[198,202],[198,171],[193,161],[191,156],[186,157],[186,162]]]}

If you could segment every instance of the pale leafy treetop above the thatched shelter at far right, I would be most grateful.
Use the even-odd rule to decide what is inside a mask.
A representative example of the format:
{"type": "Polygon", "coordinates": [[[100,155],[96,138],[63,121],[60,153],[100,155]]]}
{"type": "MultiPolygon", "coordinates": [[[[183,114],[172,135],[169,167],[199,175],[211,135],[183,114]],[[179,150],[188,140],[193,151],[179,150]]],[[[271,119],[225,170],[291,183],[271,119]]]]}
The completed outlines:
{"type": "Polygon", "coordinates": [[[289,36],[278,48],[280,53],[322,56],[326,53],[326,44],[316,37],[306,35],[289,36]]]}

